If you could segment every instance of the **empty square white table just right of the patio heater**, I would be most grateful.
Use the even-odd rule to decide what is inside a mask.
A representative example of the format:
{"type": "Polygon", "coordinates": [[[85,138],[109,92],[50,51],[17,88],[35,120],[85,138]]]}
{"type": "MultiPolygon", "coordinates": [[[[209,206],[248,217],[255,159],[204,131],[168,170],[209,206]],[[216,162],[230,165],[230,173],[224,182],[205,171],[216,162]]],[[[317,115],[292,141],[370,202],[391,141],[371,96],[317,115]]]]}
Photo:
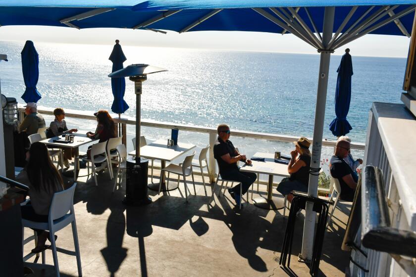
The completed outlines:
{"type": "MultiPolygon", "coordinates": [[[[158,139],[148,145],[140,147],[140,156],[148,159],[160,160],[160,168],[164,169],[166,167],[166,162],[171,162],[195,147],[196,146],[194,144],[183,142],[178,142],[177,145],[167,146],[167,139],[158,139]]],[[[136,156],[136,151],[131,151],[129,155],[136,156]]],[[[161,191],[174,190],[178,188],[177,185],[172,188],[167,188],[165,185],[164,174],[162,174],[161,178],[161,191]]],[[[159,190],[159,184],[149,184],[148,187],[152,190],[159,190]]]]}

